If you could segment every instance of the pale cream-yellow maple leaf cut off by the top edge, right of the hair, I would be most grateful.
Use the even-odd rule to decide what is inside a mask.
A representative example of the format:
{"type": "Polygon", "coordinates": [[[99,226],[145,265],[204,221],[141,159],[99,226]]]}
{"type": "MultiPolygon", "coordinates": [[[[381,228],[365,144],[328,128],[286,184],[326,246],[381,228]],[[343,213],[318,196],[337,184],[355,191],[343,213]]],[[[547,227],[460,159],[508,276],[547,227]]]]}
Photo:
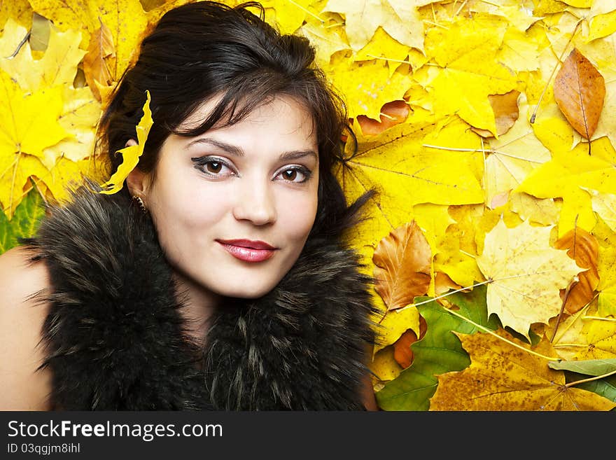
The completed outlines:
{"type": "Polygon", "coordinates": [[[323,11],[342,13],[353,50],[363,48],[381,26],[411,48],[423,50],[423,22],[417,7],[433,0],[329,0],[323,11]]]}

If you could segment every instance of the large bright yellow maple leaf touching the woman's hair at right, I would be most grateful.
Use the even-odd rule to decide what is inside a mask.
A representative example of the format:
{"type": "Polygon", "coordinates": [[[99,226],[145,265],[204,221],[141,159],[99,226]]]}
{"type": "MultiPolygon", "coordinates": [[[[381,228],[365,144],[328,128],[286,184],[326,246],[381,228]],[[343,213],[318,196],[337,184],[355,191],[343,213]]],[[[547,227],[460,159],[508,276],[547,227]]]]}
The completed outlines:
{"type": "Polygon", "coordinates": [[[348,141],[346,160],[335,168],[346,196],[354,200],[370,188],[380,190],[367,204],[368,219],[349,234],[368,260],[384,235],[410,220],[414,205],[483,202],[478,180],[481,154],[435,148],[438,141],[452,144],[453,139],[462,146],[477,146],[477,135],[459,118],[441,123],[437,127],[433,120],[409,118],[367,138],[356,130],[356,152],[348,141]],[[426,141],[435,147],[424,147],[426,141]]]}

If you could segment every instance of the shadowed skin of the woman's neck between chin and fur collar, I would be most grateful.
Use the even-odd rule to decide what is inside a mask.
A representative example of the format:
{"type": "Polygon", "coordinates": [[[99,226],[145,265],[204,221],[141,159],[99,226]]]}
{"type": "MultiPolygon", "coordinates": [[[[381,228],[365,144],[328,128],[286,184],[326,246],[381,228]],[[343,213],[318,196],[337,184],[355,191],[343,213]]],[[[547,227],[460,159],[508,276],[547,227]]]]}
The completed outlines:
{"type": "Polygon", "coordinates": [[[204,289],[192,279],[174,272],[176,293],[183,307],[181,315],[186,322],[186,332],[200,345],[205,342],[209,319],[220,304],[221,295],[204,289]]]}

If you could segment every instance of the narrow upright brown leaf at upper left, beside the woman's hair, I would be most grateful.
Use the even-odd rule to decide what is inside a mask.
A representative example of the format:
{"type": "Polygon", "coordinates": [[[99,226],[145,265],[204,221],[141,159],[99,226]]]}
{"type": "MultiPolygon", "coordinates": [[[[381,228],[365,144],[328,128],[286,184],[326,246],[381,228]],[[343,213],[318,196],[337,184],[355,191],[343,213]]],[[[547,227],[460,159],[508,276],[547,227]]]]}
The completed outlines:
{"type": "Polygon", "coordinates": [[[90,46],[83,57],[85,81],[99,102],[102,100],[99,86],[109,86],[113,83],[113,76],[109,69],[110,67],[116,68],[116,47],[113,45],[113,35],[102,21],[100,24],[101,27],[90,36],[90,46]]]}

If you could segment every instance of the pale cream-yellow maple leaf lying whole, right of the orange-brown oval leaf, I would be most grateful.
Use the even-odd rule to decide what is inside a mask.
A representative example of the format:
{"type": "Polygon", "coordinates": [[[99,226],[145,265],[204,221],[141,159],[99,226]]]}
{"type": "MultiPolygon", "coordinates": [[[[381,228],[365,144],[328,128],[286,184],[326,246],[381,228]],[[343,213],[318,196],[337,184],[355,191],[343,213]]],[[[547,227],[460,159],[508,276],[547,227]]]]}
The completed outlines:
{"type": "Polygon", "coordinates": [[[524,221],[507,228],[500,220],[486,234],[477,258],[479,270],[491,281],[487,290],[488,315],[503,326],[528,337],[532,323],[546,323],[559,314],[559,290],[582,269],[566,251],[549,246],[551,227],[533,227],[524,221]]]}

